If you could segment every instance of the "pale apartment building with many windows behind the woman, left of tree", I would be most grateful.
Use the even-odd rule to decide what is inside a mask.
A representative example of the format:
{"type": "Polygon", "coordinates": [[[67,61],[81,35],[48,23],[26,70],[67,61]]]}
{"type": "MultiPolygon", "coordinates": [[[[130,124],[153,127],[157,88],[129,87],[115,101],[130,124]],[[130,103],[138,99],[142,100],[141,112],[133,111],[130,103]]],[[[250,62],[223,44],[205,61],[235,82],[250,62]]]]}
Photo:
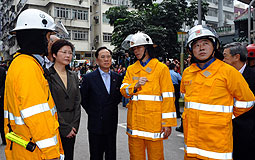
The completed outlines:
{"type": "Polygon", "coordinates": [[[76,59],[94,62],[94,52],[100,46],[110,45],[113,27],[105,12],[112,6],[130,5],[129,0],[1,0],[1,40],[5,59],[18,49],[9,31],[15,27],[17,16],[27,8],[40,9],[54,20],[61,21],[69,32],[65,37],[75,46],[76,59]]]}

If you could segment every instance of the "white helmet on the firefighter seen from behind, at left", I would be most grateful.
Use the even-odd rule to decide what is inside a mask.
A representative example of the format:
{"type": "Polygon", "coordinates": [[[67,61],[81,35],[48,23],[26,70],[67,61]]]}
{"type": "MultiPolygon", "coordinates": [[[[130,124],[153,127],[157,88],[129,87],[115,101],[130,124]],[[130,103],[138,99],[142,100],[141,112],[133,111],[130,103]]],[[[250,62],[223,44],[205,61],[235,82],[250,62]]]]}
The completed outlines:
{"type": "Polygon", "coordinates": [[[16,27],[10,33],[15,34],[16,31],[26,29],[55,31],[55,28],[54,19],[47,13],[38,9],[26,9],[20,13],[16,27]]]}

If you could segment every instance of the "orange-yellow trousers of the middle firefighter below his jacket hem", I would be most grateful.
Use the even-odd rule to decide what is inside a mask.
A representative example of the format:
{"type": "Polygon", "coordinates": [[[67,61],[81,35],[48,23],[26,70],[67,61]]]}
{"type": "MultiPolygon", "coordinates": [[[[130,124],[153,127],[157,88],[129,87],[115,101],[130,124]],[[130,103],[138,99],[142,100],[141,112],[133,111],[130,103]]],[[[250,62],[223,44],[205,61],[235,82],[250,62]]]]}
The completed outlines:
{"type": "Polygon", "coordinates": [[[147,149],[148,160],[164,160],[163,140],[151,141],[128,136],[130,160],[146,160],[147,149]]]}

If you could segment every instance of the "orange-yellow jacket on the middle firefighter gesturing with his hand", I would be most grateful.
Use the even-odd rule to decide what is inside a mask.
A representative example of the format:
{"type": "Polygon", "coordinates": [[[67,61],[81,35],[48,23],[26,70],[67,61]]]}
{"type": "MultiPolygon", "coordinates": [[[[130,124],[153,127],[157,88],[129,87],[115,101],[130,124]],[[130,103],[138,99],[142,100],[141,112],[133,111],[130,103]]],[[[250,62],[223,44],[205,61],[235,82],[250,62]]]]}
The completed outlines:
{"type": "Polygon", "coordinates": [[[169,69],[157,59],[143,67],[140,61],[129,66],[121,93],[131,98],[128,104],[127,134],[147,140],[162,140],[162,127],[176,126],[174,87],[169,69]],[[140,77],[148,81],[134,93],[140,77]]]}

